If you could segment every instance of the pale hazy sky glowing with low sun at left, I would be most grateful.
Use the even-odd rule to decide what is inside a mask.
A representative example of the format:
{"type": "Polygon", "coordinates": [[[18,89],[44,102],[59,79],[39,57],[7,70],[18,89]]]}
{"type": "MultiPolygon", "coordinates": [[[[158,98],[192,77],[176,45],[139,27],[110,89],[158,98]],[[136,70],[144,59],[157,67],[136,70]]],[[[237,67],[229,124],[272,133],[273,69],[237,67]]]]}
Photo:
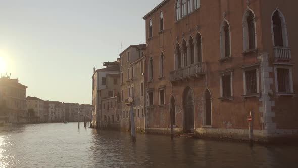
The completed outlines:
{"type": "Polygon", "coordinates": [[[145,43],[142,17],[160,2],[0,0],[0,72],[27,96],[91,104],[93,67],[145,43]]]}

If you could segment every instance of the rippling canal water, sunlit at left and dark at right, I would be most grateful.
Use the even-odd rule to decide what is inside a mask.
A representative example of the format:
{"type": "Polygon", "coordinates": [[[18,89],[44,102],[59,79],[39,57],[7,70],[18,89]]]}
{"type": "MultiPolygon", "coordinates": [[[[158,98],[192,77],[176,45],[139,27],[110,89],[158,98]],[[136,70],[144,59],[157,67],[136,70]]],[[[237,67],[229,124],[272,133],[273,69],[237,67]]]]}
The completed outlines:
{"type": "Polygon", "coordinates": [[[85,129],[81,123],[0,127],[0,167],[298,167],[298,147],[85,129]]]}

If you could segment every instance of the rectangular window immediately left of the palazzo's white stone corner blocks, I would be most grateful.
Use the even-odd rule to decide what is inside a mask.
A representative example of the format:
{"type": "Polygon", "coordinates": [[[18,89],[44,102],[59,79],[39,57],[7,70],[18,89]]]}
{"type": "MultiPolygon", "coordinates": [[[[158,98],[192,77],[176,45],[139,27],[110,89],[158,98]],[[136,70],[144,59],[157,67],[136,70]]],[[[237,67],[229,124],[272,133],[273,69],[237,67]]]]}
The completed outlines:
{"type": "Polygon", "coordinates": [[[258,86],[258,70],[247,70],[244,72],[244,79],[245,79],[245,89],[244,94],[257,94],[259,92],[259,86],[258,86]]]}

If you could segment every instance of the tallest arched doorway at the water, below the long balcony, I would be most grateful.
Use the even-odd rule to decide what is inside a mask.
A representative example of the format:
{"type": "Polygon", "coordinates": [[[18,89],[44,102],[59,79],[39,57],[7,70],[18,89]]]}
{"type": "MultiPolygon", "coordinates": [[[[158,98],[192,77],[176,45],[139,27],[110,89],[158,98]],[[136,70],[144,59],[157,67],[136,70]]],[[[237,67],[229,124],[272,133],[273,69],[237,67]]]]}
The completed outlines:
{"type": "Polygon", "coordinates": [[[194,97],[190,87],[186,87],[183,94],[184,131],[194,131],[194,97]]]}

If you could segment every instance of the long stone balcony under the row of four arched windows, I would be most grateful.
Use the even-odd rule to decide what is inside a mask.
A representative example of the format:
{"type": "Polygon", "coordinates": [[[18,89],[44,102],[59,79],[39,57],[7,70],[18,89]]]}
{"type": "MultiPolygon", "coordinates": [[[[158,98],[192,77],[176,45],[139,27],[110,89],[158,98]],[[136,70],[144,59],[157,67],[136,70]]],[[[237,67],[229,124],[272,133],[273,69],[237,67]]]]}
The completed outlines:
{"type": "Polygon", "coordinates": [[[190,77],[206,74],[206,62],[198,62],[170,72],[170,81],[183,80],[190,77]]]}

